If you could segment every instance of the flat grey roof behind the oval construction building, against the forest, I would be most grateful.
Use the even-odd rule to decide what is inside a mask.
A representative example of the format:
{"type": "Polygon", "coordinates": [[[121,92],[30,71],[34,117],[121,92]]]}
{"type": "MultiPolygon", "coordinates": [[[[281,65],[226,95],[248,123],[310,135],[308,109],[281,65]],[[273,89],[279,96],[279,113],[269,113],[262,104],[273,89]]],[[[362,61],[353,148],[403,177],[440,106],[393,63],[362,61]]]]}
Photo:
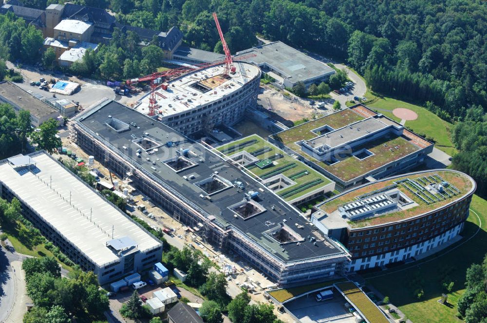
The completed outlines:
{"type": "Polygon", "coordinates": [[[281,41],[253,47],[245,51],[239,51],[235,60],[255,63],[259,66],[268,64],[288,75],[285,77],[292,83],[304,82],[324,74],[333,74],[335,70],[328,65],[309,57],[281,41]],[[254,57],[241,59],[239,56],[255,54],[254,57]]]}

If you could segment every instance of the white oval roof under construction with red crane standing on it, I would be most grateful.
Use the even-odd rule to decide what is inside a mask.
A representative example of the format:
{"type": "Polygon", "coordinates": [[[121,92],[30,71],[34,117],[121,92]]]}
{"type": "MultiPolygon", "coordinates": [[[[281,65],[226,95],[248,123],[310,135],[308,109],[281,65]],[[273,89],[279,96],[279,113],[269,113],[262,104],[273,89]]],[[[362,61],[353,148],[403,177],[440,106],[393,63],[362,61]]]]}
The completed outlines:
{"type": "MultiPolygon", "coordinates": [[[[159,88],[156,90],[156,114],[167,117],[210,104],[238,91],[259,75],[260,70],[254,65],[238,62],[234,65],[237,72],[228,77],[223,76],[224,65],[218,65],[174,79],[167,90],[159,88]]],[[[149,99],[149,94],[144,96],[135,110],[147,115],[149,99]]]]}

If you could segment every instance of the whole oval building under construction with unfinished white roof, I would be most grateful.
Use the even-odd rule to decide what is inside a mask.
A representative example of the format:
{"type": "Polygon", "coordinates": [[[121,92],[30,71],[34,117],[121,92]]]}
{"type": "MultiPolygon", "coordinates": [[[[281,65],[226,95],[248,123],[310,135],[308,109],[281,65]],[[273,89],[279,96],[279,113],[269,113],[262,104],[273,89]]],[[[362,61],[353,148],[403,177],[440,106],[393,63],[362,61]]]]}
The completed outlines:
{"type": "MultiPolygon", "coordinates": [[[[236,72],[227,76],[222,64],[187,73],[161,86],[156,90],[155,118],[185,135],[237,123],[244,117],[245,108],[257,102],[261,69],[244,62],[234,62],[234,66],[236,72]]],[[[149,94],[144,96],[135,110],[147,115],[149,99],[149,94]]]]}

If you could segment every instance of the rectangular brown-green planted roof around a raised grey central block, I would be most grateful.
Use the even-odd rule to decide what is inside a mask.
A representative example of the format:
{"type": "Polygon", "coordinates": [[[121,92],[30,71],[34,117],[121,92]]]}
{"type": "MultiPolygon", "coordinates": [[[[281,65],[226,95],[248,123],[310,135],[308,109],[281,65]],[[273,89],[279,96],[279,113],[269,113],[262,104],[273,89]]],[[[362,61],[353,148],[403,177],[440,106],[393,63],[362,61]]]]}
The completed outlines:
{"type": "Polygon", "coordinates": [[[334,156],[339,160],[337,163],[318,161],[316,158],[301,150],[300,141],[306,141],[312,147],[324,143],[335,147],[346,142],[354,141],[366,135],[367,131],[374,132],[388,125],[402,127],[384,116],[370,118],[376,114],[366,114],[368,111],[366,107],[361,105],[357,106],[356,109],[344,109],[282,131],[272,135],[271,138],[281,142],[289,149],[316,163],[343,181],[352,180],[431,145],[430,142],[419,136],[409,131],[404,131],[402,136],[389,133],[388,135],[354,147],[352,153],[334,156]],[[352,126],[353,129],[347,127],[348,125],[352,126]],[[359,131],[356,130],[357,128],[359,131]],[[333,131],[333,129],[336,130],[333,131]],[[325,134],[326,136],[324,136],[325,134]],[[367,155],[361,156],[361,151],[367,152],[367,155]]]}

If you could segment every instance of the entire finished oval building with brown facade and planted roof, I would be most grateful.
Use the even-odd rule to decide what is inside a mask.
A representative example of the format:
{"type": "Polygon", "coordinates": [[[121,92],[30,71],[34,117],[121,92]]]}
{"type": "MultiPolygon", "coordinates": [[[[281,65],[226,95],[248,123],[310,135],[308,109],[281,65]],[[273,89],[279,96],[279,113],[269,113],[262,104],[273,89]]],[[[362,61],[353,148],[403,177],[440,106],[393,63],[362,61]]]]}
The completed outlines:
{"type": "Polygon", "coordinates": [[[382,267],[458,238],[475,189],[470,176],[455,170],[403,174],[325,201],[312,222],[349,250],[348,272],[382,267]]]}

